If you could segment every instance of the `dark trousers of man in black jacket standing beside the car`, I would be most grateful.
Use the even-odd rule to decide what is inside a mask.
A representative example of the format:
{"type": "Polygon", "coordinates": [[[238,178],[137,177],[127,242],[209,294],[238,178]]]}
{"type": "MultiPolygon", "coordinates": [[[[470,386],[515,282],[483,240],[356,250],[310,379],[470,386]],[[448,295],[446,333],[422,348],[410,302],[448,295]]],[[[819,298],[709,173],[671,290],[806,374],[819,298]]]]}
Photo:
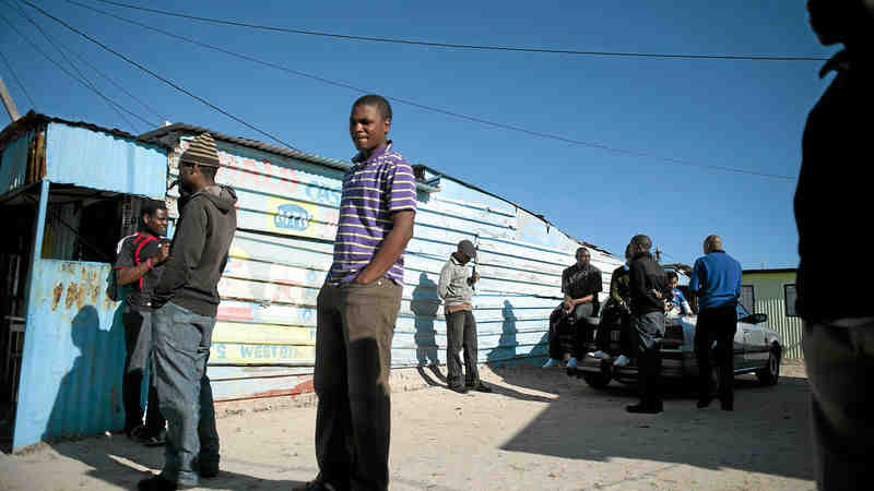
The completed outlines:
{"type": "Polygon", "coordinates": [[[631,316],[635,352],[637,355],[638,391],[640,403],[647,406],[661,404],[662,357],[661,338],[664,336],[664,314],[649,312],[631,316]]]}

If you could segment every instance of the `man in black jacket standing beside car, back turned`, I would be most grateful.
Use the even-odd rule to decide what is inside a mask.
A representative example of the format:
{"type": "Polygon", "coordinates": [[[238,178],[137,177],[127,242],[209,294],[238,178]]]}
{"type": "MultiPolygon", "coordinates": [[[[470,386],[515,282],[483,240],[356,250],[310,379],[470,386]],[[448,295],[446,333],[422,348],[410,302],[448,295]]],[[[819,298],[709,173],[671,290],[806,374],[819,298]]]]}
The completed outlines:
{"type": "Polygon", "coordinates": [[[649,253],[652,241],[647,236],[631,239],[629,286],[631,290],[631,331],[637,355],[640,403],[628,406],[628,412],[657,414],[662,411],[659,393],[662,360],[661,339],[664,337],[664,299],[670,295],[664,268],[649,253]]]}

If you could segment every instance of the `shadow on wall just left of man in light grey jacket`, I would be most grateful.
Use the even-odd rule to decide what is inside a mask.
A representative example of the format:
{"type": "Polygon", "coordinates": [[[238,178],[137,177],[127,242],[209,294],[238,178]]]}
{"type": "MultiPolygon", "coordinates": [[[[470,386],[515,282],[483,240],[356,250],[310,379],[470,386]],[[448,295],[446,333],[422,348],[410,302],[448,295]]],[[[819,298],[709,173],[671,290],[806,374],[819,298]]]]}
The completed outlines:
{"type": "Polygon", "coordinates": [[[440,298],[437,296],[437,284],[428,278],[427,273],[418,275],[418,285],[413,289],[413,300],[410,310],[415,315],[416,361],[418,374],[428,385],[440,385],[426,371],[427,368],[438,380],[446,382],[446,375],[440,373],[440,357],[437,352],[437,333],[434,321],[440,309],[440,298]]]}

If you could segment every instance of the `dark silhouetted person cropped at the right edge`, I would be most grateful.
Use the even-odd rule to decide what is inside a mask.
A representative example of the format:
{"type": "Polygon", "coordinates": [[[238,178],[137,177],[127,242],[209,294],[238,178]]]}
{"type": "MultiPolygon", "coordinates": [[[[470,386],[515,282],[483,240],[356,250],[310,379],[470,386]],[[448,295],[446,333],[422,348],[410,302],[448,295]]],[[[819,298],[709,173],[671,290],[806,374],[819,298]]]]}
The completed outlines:
{"type": "Polygon", "coordinates": [[[860,176],[872,154],[871,123],[864,121],[874,113],[874,0],[810,0],[807,10],[819,41],[846,48],[819,72],[836,75],[807,117],[795,190],[795,309],[811,384],[815,475],[819,489],[864,489],[874,464],[874,304],[867,288],[874,266],[864,259],[836,266],[834,252],[866,243],[871,183],[860,176]],[[835,285],[840,302],[829,301],[835,285]]]}

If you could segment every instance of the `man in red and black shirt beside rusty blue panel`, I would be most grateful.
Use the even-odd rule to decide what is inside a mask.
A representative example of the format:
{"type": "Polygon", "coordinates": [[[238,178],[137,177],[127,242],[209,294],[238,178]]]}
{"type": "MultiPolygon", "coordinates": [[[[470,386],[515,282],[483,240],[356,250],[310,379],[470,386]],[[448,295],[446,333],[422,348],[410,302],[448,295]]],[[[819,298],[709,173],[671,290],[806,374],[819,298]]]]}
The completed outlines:
{"type": "Polygon", "coordinates": [[[125,298],[121,322],[125,324],[125,373],[121,375],[121,394],[125,403],[125,434],[145,445],[164,442],[166,421],[161,416],[155,391],[155,371],[149,383],[149,403],[143,424],[140,406],[143,375],[152,359],[152,291],[161,279],[169,247],[162,243],[167,235],[167,205],[155,200],[144,200],[140,214],[140,230],[118,243],[115,265],[116,283],[130,285],[125,298]]]}

